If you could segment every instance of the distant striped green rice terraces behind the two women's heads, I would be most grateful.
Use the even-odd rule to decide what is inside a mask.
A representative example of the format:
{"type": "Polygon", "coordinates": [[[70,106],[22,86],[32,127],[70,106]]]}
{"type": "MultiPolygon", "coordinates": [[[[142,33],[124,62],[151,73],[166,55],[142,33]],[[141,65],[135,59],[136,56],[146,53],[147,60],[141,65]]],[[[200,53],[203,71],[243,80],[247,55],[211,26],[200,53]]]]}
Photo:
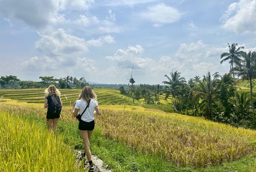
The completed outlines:
{"type": "MultiPolygon", "coordinates": [[[[10,98],[27,103],[44,103],[45,89],[10,89],[0,90],[0,98],[10,98]]],[[[60,89],[63,105],[73,105],[81,89],[60,89]]],[[[95,88],[99,104],[131,104],[132,98],[119,94],[117,89],[95,88]]]]}

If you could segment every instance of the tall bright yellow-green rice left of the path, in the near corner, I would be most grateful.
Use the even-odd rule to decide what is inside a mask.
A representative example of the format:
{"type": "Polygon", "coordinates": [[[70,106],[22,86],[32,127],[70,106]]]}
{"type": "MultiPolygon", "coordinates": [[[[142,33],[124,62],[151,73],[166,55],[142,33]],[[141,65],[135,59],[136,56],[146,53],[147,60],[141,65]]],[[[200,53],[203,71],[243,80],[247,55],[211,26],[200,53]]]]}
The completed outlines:
{"type": "Polygon", "coordinates": [[[83,171],[63,136],[54,136],[12,112],[0,115],[0,171],[83,171]]]}

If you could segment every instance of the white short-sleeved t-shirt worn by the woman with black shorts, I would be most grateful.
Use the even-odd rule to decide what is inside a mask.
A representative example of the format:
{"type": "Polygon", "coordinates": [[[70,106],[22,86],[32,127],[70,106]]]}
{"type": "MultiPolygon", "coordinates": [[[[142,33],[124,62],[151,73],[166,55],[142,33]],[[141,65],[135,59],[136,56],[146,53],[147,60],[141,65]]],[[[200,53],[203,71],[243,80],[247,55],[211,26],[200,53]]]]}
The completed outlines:
{"type": "MultiPolygon", "coordinates": [[[[80,99],[76,101],[74,108],[79,109],[79,114],[82,114],[84,109],[86,109],[87,102],[86,100],[80,99]]],[[[81,117],[81,120],[85,122],[91,122],[94,120],[94,109],[98,106],[98,102],[95,99],[91,99],[89,107],[86,109],[84,114],[81,117]]]]}

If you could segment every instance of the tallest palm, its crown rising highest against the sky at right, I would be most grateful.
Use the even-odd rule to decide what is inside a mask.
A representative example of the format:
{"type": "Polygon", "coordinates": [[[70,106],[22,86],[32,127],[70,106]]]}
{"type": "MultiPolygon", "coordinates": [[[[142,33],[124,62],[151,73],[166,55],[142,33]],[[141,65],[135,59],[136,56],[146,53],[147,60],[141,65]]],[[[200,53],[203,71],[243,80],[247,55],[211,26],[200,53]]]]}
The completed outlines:
{"type": "MultiPolygon", "coordinates": [[[[229,45],[229,43],[227,43],[227,45],[229,45]]],[[[221,54],[221,58],[223,58],[221,60],[221,64],[224,61],[229,60],[230,63],[230,72],[232,72],[233,74],[233,78],[234,78],[234,67],[236,67],[237,65],[240,65],[240,61],[241,61],[241,55],[243,54],[243,51],[241,51],[241,49],[244,49],[243,46],[240,46],[238,48],[236,48],[238,46],[237,43],[232,43],[232,45],[229,45],[229,53],[222,53],[221,54]]]]}

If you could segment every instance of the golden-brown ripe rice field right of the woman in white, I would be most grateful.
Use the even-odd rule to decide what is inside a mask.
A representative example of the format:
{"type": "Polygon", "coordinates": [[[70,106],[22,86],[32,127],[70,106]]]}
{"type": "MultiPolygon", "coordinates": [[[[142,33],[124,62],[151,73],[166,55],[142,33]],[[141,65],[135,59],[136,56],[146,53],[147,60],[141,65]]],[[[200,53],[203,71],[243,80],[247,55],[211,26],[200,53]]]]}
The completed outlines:
{"type": "Polygon", "coordinates": [[[99,121],[106,137],[156,153],[177,166],[207,167],[253,151],[256,131],[140,107],[104,108],[99,121]],[[109,122],[111,121],[111,122],[109,122]]]}

